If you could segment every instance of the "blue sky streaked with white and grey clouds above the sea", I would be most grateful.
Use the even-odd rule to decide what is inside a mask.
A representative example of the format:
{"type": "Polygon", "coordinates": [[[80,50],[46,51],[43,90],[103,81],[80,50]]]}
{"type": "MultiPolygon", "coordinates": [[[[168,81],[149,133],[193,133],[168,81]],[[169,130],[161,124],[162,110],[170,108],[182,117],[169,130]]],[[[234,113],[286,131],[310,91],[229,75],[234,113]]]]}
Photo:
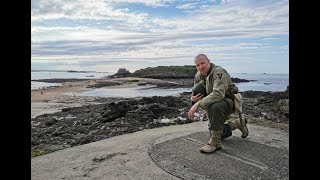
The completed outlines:
{"type": "Polygon", "coordinates": [[[31,0],[31,70],[289,73],[288,0],[31,0]]]}

